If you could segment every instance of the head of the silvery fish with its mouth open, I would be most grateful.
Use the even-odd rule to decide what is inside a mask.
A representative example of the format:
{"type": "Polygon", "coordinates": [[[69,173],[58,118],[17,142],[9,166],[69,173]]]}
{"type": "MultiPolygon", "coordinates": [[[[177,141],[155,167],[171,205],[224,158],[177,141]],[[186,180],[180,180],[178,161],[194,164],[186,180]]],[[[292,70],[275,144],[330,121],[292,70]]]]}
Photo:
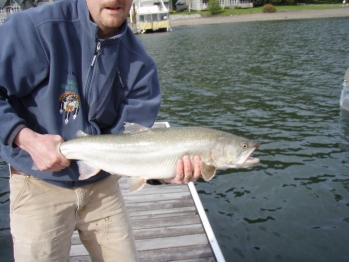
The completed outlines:
{"type": "Polygon", "coordinates": [[[247,168],[259,163],[258,158],[251,157],[258,147],[257,141],[235,135],[222,136],[214,145],[211,157],[217,170],[247,168]]]}

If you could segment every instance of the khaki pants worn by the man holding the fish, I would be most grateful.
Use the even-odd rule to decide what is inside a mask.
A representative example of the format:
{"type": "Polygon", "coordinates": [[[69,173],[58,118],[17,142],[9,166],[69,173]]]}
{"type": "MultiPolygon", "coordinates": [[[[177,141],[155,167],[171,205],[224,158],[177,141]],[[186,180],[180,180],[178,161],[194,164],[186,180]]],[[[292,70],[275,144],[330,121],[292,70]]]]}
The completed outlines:
{"type": "Polygon", "coordinates": [[[78,230],[92,261],[138,261],[117,176],[79,188],[28,175],[10,176],[10,217],[16,262],[69,261],[78,230]]]}

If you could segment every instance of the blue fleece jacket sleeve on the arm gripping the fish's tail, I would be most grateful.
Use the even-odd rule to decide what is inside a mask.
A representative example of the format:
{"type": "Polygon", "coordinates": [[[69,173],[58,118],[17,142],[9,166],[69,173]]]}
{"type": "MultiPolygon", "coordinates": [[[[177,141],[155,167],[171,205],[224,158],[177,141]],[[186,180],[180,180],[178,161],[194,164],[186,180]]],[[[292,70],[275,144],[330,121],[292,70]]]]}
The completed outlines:
{"type": "Polygon", "coordinates": [[[48,59],[27,12],[9,16],[0,26],[0,39],[0,143],[12,145],[26,125],[13,104],[45,79],[48,59]]]}

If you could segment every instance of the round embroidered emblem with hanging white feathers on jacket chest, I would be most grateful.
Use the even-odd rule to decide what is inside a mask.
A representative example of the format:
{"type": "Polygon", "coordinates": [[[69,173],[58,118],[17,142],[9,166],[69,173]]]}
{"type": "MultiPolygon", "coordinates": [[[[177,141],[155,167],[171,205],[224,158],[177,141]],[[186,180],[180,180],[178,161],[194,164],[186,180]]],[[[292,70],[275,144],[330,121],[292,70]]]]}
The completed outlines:
{"type": "Polygon", "coordinates": [[[64,122],[68,124],[70,117],[73,116],[73,119],[75,119],[79,112],[80,98],[74,92],[67,91],[64,94],[61,94],[59,96],[59,101],[60,101],[59,112],[61,114],[65,112],[64,122]]]}

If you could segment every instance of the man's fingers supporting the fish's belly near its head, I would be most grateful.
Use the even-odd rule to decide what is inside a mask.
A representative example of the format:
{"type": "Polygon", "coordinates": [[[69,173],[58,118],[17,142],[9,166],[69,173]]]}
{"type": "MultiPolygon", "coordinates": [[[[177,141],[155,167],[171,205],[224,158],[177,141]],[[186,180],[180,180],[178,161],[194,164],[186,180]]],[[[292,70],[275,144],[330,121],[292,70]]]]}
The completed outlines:
{"type": "Polygon", "coordinates": [[[173,179],[164,179],[166,183],[171,184],[188,184],[195,182],[201,177],[200,169],[201,159],[199,156],[194,157],[194,163],[191,164],[189,156],[184,156],[177,162],[176,176],[173,179]]]}

